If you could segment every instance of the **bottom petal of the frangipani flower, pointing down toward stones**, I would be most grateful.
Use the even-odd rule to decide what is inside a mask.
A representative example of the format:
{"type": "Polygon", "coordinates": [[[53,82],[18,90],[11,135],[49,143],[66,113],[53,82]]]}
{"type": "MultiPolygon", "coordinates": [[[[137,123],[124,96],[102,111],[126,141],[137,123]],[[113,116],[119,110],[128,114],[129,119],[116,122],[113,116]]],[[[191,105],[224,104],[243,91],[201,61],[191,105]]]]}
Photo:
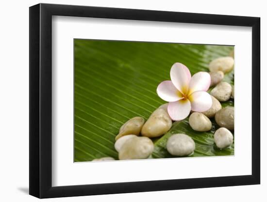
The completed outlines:
{"type": "Polygon", "coordinates": [[[191,111],[191,104],[188,99],[170,102],[168,104],[168,114],[174,121],[185,119],[191,111]]]}

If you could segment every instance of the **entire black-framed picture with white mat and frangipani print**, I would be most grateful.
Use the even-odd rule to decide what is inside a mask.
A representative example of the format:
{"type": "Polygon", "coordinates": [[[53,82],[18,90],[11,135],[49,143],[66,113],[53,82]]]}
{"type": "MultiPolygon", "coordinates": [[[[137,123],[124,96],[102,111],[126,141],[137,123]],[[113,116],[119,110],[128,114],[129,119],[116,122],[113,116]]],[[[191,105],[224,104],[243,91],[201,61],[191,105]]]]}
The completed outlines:
{"type": "Polygon", "coordinates": [[[30,194],[260,184],[260,18],[30,7],[30,194]]]}

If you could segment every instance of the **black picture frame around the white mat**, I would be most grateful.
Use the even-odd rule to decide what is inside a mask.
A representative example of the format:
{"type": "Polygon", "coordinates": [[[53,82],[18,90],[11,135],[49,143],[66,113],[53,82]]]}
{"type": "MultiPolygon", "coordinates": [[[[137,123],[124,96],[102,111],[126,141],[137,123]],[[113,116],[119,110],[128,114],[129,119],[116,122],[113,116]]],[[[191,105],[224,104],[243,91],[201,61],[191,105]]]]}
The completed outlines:
{"type": "Polygon", "coordinates": [[[30,7],[30,195],[38,198],[260,184],[260,18],[37,4],[30,7]],[[252,27],[252,174],[79,186],[52,182],[52,16],[79,16],[252,27]]]}

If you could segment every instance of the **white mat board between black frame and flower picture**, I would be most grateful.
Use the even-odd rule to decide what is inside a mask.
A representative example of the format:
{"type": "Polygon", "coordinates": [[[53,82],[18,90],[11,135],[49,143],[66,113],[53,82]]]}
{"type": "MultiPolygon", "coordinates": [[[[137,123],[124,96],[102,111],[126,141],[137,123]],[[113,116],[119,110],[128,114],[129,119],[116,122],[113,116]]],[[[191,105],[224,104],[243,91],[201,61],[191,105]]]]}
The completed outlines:
{"type": "Polygon", "coordinates": [[[52,18],[52,186],[250,175],[251,99],[247,97],[251,97],[252,80],[251,28],[130,22],[52,18]],[[73,163],[73,38],[234,45],[234,101],[238,103],[234,108],[234,156],[73,163]],[[244,108],[248,110],[246,116],[244,108]],[[146,171],[136,172],[136,168],[146,168],[146,171]],[[118,169],[119,175],[110,174],[117,173],[118,169]],[[162,172],[165,169],[168,171],[162,172]],[[101,173],[101,177],[96,173],[101,173]]]}

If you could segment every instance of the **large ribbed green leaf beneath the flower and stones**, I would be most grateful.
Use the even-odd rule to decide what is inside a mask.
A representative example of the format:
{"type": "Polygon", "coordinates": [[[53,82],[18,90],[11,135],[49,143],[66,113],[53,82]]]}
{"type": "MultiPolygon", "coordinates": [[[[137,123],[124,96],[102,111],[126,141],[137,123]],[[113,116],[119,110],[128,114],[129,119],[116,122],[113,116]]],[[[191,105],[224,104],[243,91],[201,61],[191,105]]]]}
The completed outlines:
{"type": "MultiPolygon", "coordinates": [[[[119,128],[134,116],[148,119],[165,101],[156,88],[169,80],[174,62],[182,62],[191,74],[208,71],[211,60],[227,56],[230,46],[206,46],[171,43],[74,40],[74,156],[75,161],[91,161],[111,156],[119,128]]],[[[234,72],[225,76],[234,84],[234,72]]],[[[233,100],[222,103],[234,106],[233,100]]],[[[174,123],[171,131],[154,139],[153,157],[170,156],[165,147],[173,132],[186,131],[196,141],[193,156],[233,155],[233,148],[218,150],[213,146],[213,132],[196,133],[186,120],[174,123]],[[164,143],[165,142],[165,143],[164,143]],[[200,144],[205,142],[205,144],[200,144]]]]}

